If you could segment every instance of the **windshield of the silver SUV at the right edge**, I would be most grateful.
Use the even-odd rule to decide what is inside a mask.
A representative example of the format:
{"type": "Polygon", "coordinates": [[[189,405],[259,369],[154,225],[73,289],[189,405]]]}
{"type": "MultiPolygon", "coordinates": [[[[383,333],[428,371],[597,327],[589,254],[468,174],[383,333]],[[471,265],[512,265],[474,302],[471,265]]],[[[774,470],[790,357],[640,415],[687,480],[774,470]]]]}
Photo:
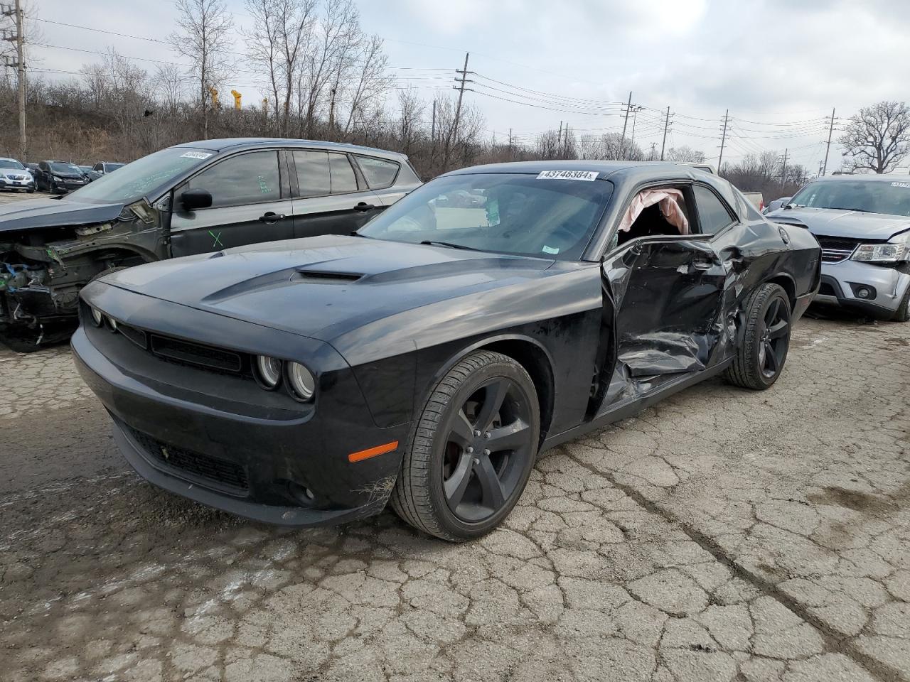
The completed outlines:
{"type": "Polygon", "coordinates": [[[910,182],[820,180],[804,186],[790,203],[809,208],[843,208],[910,216],[910,182]]]}

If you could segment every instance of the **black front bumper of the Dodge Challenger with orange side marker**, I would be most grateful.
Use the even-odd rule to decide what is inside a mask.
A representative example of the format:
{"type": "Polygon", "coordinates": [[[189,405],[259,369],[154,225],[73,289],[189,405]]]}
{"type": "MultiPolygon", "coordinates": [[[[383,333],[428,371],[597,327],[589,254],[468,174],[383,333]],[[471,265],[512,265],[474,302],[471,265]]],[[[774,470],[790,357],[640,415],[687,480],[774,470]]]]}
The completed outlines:
{"type": "MultiPolygon", "coordinates": [[[[130,325],[149,322],[150,310],[129,307],[127,301],[119,310],[102,309],[130,325]]],[[[269,524],[335,524],[382,510],[410,425],[376,426],[353,372],[330,346],[163,301],[152,310],[175,328],[192,320],[197,340],[211,335],[243,345],[266,335],[277,356],[276,345],[300,353],[301,344],[319,344],[314,356],[330,368],[319,376],[316,406],[282,402],[251,377],[177,365],[123,335],[80,326],[72,338],[76,367],[113,416],[116,443],[136,472],[178,495],[269,524]],[[387,454],[349,461],[351,453],[393,441],[399,447],[387,454]]]]}

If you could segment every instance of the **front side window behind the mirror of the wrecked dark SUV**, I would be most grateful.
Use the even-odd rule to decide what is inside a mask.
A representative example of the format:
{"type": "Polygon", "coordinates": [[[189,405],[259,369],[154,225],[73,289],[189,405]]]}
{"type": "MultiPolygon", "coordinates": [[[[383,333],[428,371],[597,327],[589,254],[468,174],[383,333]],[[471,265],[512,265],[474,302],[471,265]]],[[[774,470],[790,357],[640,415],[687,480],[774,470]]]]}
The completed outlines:
{"type": "Polygon", "coordinates": [[[231,156],[190,178],[180,191],[187,189],[211,193],[212,208],[278,200],[281,198],[278,152],[231,156]]]}

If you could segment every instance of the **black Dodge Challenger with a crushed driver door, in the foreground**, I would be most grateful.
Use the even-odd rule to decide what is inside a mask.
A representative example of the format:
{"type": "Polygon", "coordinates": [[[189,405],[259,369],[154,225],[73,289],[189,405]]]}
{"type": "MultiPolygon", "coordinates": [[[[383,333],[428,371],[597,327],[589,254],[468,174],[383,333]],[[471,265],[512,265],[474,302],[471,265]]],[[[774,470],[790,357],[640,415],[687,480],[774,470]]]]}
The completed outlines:
{"type": "Polygon", "coordinates": [[[351,236],[96,280],[72,345],[157,486],[293,526],[390,501],[465,540],[541,450],[719,373],[771,386],[819,267],[808,231],[693,168],[486,165],[351,236]]]}

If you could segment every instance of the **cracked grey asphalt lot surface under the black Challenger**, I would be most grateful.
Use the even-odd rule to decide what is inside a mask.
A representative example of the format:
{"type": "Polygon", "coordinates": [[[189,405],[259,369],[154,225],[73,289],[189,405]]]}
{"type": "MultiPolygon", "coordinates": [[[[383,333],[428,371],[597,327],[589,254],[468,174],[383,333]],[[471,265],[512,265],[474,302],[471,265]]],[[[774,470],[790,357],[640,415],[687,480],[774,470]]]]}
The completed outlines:
{"type": "Polygon", "coordinates": [[[468,545],[263,527],[128,470],[66,348],[0,350],[0,677],[910,680],[910,325],[805,319],[541,457],[468,545]]]}

